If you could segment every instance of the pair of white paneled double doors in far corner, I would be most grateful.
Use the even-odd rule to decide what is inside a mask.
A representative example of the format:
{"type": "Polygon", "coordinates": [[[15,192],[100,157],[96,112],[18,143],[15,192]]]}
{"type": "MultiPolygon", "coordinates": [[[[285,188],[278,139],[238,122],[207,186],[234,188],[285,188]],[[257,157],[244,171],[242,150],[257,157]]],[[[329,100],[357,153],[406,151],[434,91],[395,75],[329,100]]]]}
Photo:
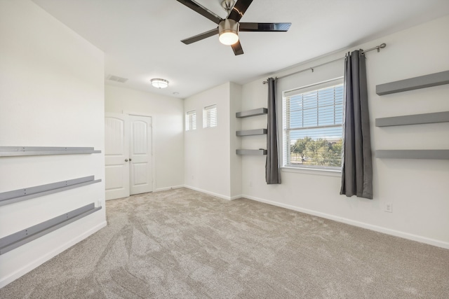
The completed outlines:
{"type": "Polygon", "coordinates": [[[106,200],[152,192],[152,118],[105,113],[106,200]]]}

